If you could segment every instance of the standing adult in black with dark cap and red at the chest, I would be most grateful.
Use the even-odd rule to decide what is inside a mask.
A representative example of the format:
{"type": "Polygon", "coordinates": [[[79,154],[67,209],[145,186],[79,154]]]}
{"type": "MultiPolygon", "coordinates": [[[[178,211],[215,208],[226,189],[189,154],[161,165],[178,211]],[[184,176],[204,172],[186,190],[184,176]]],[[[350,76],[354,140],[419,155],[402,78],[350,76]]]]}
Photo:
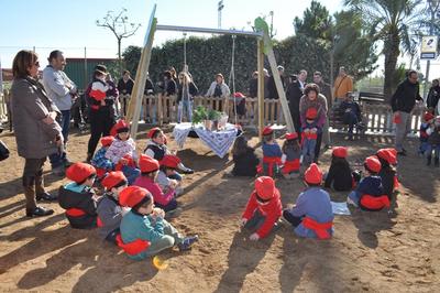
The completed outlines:
{"type": "Polygon", "coordinates": [[[90,105],[90,139],[87,149],[87,162],[90,162],[94,158],[99,139],[110,135],[110,130],[116,123],[114,96],[117,96],[118,89],[109,86],[106,82],[107,75],[107,67],[97,65],[94,72],[94,80],[86,90],[86,97],[90,105]]]}

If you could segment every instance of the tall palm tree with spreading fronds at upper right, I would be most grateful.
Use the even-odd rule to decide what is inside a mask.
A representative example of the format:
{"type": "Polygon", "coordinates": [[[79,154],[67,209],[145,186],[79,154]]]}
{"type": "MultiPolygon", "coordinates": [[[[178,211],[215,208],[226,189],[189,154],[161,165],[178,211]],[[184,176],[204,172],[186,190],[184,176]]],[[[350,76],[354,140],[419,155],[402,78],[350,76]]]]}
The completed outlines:
{"type": "Polygon", "coordinates": [[[397,58],[403,53],[414,56],[415,35],[427,23],[421,0],[345,0],[344,4],[360,13],[374,41],[383,42],[385,55],[384,95],[391,99],[398,80],[394,78],[397,58]]]}

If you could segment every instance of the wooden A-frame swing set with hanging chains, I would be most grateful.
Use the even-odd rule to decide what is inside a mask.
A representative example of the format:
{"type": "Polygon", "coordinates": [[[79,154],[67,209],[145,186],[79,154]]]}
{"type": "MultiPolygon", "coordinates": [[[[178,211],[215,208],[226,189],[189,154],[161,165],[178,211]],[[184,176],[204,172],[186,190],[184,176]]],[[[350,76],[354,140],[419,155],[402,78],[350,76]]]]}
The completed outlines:
{"type": "MultiPolygon", "coordinates": [[[[154,33],[156,31],[177,31],[184,34],[184,65],[186,67],[186,34],[188,32],[193,33],[211,33],[211,34],[227,34],[232,36],[232,59],[231,59],[231,72],[229,75],[229,83],[232,80],[232,94],[235,94],[235,75],[234,75],[234,55],[235,55],[235,39],[237,35],[252,36],[256,39],[257,45],[257,72],[258,72],[258,135],[262,138],[262,132],[264,128],[264,56],[267,56],[268,63],[271,65],[271,70],[274,76],[276,90],[278,91],[279,101],[282,105],[283,115],[287,124],[287,131],[294,132],[294,123],[290,116],[290,110],[287,105],[286,94],[283,89],[282,79],[277,70],[277,63],[275,59],[275,54],[272,48],[272,41],[268,36],[267,23],[262,19],[255,19],[254,26],[256,31],[238,31],[238,30],[221,30],[221,29],[208,29],[208,28],[194,28],[194,26],[177,26],[177,25],[163,25],[157,24],[157,19],[154,17],[156,12],[156,4],[153,7],[153,11],[150,18],[148,26],[146,29],[144,45],[142,48],[141,59],[138,65],[138,72],[134,79],[134,86],[131,94],[131,99],[129,104],[129,109],[127,112],[125,120],[128,122],[132,121],[131,135],[135,138],[139,126],[139,118],[142,108],[142,98],[145,89],[146,73],[148,72],[151,53],[153,47],[154,33]]],[[[228,101],[228,99],[227,99],[228,101]]],[[[161,101],[158,101],[161,102],[161,101]]],[[[237,123],[237,104],[234,102],[234,119],[237,123]]]]}

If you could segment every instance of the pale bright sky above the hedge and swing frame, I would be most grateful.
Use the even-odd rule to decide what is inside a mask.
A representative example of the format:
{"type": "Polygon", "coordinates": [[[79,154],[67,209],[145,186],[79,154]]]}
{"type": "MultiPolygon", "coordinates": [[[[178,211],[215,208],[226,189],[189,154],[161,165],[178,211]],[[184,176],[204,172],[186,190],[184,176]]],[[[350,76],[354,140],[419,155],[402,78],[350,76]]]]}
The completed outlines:
{"type": "MultiPolygon", "coordinates": [[[[154,3],[157,4],[158,24],[218,28],[219,0],[0,0],[0,59],[3,68],[10,68],[12,59],[22,48],[40,55],[42,66],[51,51],[62,50],[65,56],[116,57],[118,46],[114,35],[98,28],[96,20],[107,12],[125,8],[130,22],[141,23],[135,35],[122,41],[122,51],[129,45],[141,46],[154,3]]],[[[260,15],[274,13],[275,37],[283,40],[294,34],[293,21],[301,17],[311,0],[223,0],[222,29],[251,30],[249,22],[260,15]]],[[[342,0],[320,1],[330,13],[343,9],[342,0]]],[[[190,34],[188,34],[190,35],[190,34]]],[[[196,34],[200,35],[200,34],[196,34]]],[[[166,40],[183,37],[178,32],[156,32],[154,45],[166,40]]],[[[383,67],[383,58],[380,58],[383,67]]],[[[422,61],[422,72],[425,64],[422,61]]],[[[378,69],[381,70],[381,68],[378,69]]],[[[431,65],[431,76],[440,76],[440,63],[431,65]]]]}

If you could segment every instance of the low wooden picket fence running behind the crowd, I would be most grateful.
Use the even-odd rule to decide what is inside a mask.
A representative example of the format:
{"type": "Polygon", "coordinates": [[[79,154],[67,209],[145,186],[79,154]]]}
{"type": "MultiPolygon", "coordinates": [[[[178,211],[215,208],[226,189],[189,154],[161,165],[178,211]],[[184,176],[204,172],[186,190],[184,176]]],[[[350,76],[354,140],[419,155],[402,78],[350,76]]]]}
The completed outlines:
{"type": "MultiPolygon", "coordinates": [[[[8,121],[11,121],[11,113],[7,110],[8,101],[10,101],[10,93],[4,90],[3,94],[3,97],[0,99],[0,115],[7,116],[8,121]]],[[[127,97],[128,96],[125,96],[125,98],[127,97]]],[[[243,127],[256,128],[258,126],[258,101],[256,98],[244,99],[244,108],[246,111],[242,116],[237,116],[237,123],[240,123],[243,127]]],[[[201,105],[209,109],[224,111],[229,116],[229,122],[235,123],[234,101],[234,98],[198,96],[194,97],[194,107],[201,105]]],[[[142,104],[141,120],[157,124],[177,121],[176,96],[162,97],[145,95],[142,104]]],[[[393,112],[388,105],[361,101],[361,108],[366,131],[378,133],[391,133],[394,131],[393,112]]],[[[421,112],[422,109],[420,108],[416,108],[413,111],[411,132],[414,133],[417,133],[419,129],[421,112]]],[[[264,100],[264,121],[265,124],[284,124],[285,120],[279,100],[264,100]]]]}

